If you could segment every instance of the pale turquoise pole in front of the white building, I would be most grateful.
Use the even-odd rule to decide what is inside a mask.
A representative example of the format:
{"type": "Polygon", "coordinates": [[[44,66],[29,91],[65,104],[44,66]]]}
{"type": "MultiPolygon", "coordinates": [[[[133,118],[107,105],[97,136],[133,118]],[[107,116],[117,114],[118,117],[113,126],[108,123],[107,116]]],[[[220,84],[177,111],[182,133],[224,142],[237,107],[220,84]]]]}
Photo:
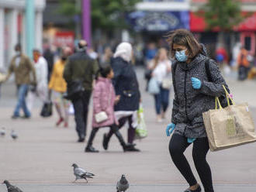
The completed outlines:
{"type": "Polygon", "coordinates": [[[26,54],[33,59],[35,39],[35,2],[26,0],[26,54]]]}

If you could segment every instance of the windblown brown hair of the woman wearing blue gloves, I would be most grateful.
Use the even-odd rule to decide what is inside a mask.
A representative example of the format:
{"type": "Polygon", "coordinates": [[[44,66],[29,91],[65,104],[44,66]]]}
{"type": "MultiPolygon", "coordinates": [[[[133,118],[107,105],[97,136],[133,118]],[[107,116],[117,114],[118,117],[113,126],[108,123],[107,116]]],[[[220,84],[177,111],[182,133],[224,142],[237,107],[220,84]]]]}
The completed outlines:
{"type": "Polygon", "coordinates": [[[189,58],[194,58],[202,52],[202,46],[197,42],[191,32],[186,29],[176,29],[166,36],[167,42],[170,46],[171,58],[175,57],[175,50],[173,50],[173,44],[185,46],[189,50],[189,58]]]}

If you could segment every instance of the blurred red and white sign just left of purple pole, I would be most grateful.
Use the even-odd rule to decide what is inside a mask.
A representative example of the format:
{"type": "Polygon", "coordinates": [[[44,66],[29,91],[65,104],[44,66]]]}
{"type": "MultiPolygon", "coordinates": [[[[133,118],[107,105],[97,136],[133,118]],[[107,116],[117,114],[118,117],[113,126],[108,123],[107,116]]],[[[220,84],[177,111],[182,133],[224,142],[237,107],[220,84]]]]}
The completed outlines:
{"type": "Polygon", "coordinates": [[[57,47],[69,46],[74,48],[74,33],[73,32],[57,32],[55,33],[54,45],[57,47]]]}

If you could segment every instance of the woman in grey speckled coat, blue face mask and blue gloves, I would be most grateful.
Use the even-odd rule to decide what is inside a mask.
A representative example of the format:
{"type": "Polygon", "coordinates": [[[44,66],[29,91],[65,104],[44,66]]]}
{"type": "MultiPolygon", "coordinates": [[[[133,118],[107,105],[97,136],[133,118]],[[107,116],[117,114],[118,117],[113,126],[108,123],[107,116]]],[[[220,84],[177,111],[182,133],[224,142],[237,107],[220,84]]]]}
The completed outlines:
{"type": "Polygon", "coordinates": [[[209,143],[202,112],[215,108],[215,97],[225,95],[223,85],[227,87],[227,84],[216,63],[206,57],[204,46],[188,30],[175,30],[168,36],[168,43],[171,57],[175,59],[171,67],[175,99],[171,124],[166,129],[168,136],[175,130],[169,144],[171,159],[189,183],[185,192],[201,191],[183,154],[193,142],[195,168],[204,190],[213,192],[212,173],[206,161],[209,143]]]}

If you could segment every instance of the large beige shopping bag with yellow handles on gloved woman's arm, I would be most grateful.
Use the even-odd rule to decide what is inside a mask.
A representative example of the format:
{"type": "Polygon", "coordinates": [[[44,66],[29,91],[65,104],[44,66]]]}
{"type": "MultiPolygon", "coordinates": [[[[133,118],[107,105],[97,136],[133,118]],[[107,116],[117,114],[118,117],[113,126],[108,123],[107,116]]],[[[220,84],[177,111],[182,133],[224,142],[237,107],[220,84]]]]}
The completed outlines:
{"type": "Polygon", "coordinates": [[[216,98],[216,109],[202,113],[211,151],[256,141],[254,122],[247,103],[235,105],[230,98],[233,103],[230,105],[230,95],[224,86],[223,88],[227,95],[227,108],[222,108],[219,98],[216,98]]]}

